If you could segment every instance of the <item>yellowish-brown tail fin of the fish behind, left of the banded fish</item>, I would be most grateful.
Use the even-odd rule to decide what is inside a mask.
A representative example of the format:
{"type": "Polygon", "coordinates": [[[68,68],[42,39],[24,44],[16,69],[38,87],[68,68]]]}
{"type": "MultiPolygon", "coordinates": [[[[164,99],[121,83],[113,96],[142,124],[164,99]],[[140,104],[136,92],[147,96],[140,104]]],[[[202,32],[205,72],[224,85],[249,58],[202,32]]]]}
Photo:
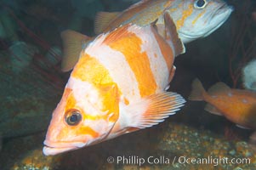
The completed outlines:
{"type": "Polygon", "coordinates": [[[66,30],[61,32],[63,41],[63,59],[61,63],[62,71],[71,71],[77,64],[82,45],[86,44],[91,38],[77,31],[66,30]]]}

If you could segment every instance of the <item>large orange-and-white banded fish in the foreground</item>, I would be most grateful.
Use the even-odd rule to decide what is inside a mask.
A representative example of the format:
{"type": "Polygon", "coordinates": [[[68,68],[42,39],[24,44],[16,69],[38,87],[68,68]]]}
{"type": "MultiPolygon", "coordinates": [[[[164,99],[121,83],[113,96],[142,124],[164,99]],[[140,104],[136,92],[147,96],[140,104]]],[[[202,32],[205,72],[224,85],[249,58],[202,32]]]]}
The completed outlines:
{"type": "Polygon", "coordinates": [[[169,45],[155,26],[125,25],[101,34],[82,50],[54,110],[44,155],[97,144],[163,122],[185,99],[165,89],[174,57],[184,51],[174,22],[169,45]]]}

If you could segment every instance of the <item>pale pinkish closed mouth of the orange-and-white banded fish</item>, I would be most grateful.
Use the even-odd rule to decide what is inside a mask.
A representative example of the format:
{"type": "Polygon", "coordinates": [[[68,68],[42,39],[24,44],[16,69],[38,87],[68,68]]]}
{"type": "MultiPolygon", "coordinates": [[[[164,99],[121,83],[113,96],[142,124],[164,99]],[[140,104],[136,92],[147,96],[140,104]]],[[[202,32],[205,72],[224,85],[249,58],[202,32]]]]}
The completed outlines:
{"type": "Polygon", "coordinates": [[[43,147],[43,154],[45,156],[54,156],[62,152],[77,150],[86,145],[82,142],[52,142],[49,140],[45,140],[43,144],[45,144],[43,147]]]}

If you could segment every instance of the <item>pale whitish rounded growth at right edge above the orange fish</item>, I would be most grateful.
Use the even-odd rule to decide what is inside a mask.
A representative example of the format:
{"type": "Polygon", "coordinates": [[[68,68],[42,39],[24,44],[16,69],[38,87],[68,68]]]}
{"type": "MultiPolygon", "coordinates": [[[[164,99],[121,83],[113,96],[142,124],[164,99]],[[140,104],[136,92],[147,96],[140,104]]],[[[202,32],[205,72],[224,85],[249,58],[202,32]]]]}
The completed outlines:
{"type": "Polygon", "coordinates": [[[242,68],[242,82],[245,88],[256,92],[256,59],[242,68]]]}

